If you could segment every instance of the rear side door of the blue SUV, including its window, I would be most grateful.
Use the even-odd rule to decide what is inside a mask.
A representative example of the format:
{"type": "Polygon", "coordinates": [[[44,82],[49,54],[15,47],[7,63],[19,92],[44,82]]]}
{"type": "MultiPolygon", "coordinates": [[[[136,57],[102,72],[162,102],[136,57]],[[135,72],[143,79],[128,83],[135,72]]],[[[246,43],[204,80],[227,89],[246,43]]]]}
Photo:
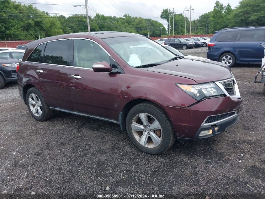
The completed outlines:
{"type": "Polygon", "coordinates": [[[261,63],[264,48],[260,43],[265,41],[265,30],[241,30],[239,34],[239,41],[234,43],[237,61],[261,63]]]}

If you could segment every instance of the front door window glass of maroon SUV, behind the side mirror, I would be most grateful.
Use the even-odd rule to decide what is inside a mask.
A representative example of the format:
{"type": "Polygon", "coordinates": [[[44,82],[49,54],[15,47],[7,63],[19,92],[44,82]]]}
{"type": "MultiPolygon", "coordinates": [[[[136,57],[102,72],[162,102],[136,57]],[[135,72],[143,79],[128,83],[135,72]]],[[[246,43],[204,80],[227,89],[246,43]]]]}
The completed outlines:
{"type": "Polygon", "coordinates": [[[93,41],[74,40],[74,66],[92,69],[95,62],[109,63],[109,55],[93,41]]]}

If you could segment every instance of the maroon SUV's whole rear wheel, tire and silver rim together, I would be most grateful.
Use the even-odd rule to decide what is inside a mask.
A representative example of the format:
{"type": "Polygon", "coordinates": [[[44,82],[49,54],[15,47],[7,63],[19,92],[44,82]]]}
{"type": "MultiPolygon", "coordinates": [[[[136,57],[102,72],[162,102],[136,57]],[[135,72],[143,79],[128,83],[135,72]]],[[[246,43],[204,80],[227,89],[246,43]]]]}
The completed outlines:
{"type": "Polygon", "coordinates": [[[54,111],[50,109],[42,93],[35,87],[30,88],[26,95],[29,113],[38,121],[52,118],[54,111]]]}

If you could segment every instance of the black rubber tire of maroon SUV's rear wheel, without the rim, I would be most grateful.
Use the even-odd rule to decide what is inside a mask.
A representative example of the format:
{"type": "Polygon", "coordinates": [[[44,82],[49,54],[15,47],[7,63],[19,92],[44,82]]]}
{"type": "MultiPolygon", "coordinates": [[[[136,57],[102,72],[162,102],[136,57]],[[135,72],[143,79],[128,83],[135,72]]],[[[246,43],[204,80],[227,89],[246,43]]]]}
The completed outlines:
{"type": "Polygon", "coordinates": [[[50,119],[50,118],[53,117],[54,111],[50,109],[50,107],[48,106],[47,102],[45,101],[42,93],[37,88],[32,87],[32,88],[30,88],[28,90],[27,95],[26,95],[26,102],[27,102],[27,106],[28,106],[28,109],[29,109],[29,113],[37,121],[45,121],[45,120],[48,120],[48,119],[50,119]],[[39,100],[41,102],[41,105],[42,105],[42,113],[41,113],[40,116],[34,115],[34,113],[30,109],[30,106],[29,106],[29,96],[31,94],[35,94],[39,98],[39,100]]]}

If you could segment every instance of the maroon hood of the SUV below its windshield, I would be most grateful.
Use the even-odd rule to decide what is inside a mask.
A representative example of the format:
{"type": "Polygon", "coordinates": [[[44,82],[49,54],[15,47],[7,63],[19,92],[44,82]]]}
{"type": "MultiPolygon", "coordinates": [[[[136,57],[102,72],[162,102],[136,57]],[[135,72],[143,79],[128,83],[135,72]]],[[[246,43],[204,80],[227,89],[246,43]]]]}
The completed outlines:
{"type": "Polygon", "coordinates": [[[225,64],[201,58],[183,58],[165,64],[140,69],[185,77],[192,79],[197,83],[225,80],[232,77],[231,69],[225,64]]]}

